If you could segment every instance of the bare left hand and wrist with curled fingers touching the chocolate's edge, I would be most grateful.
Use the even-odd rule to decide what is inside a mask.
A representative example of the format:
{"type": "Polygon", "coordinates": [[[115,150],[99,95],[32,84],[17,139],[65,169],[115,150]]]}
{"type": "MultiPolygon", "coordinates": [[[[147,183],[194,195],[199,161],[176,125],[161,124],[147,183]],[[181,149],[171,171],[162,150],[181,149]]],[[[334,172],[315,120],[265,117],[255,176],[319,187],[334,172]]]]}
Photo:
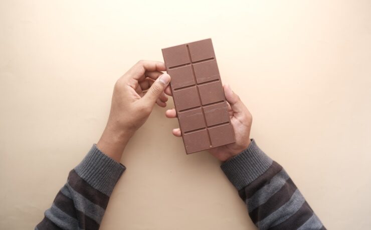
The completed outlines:
{"type": "Polygon", "coordinates": [[[163,62],[140,60],[116,81],[107,125],[97,143],[114,160],[120,161],[127,142],[147,120],[154,104],[166,106],[164,90],[170,76],[161,72],[165,69],[163,62]]]}

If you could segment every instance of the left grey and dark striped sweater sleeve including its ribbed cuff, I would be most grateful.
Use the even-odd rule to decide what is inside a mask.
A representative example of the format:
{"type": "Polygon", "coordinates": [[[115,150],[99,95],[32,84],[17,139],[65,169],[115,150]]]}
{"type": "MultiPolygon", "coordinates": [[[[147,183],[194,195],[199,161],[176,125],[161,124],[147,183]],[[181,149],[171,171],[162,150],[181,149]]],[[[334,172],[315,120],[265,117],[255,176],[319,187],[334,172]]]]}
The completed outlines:
{"type": "Polygon", "coordinates": [[[35,229],[98,229],[113,187],[125,170],[94,144],[35,229]]]}

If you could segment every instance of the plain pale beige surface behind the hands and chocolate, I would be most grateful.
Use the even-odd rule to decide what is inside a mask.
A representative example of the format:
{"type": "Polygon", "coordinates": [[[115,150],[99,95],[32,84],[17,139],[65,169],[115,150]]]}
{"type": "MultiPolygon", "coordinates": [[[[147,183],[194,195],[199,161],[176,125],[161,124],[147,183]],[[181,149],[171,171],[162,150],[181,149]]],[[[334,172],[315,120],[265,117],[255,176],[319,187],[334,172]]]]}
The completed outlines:
{"type": "MultiPolygon", "coordinates": [[[[329,229],[371,225],[371,1],[0,1],[0,228],[31,229],[96,142],[115,80],[212,37],[252,137],[329,229]]],[[[172,100],[168,108],[173,106],[172,100]]],[[[101,229],[255,229],[207,152],[156,107],[101,229]]]]}

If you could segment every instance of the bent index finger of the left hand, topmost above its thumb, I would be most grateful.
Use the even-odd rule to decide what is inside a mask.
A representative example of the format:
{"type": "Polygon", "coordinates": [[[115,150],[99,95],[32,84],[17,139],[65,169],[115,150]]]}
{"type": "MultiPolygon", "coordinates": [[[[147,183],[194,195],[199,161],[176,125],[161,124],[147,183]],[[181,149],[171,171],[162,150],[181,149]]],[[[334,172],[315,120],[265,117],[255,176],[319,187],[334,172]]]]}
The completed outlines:
{"type": "Polygon", "coordinates": [[[165,63],[155,60],[139,60],[134,66],[132,66],[126,74],[130,78],[139,80],[145,77],[146,71],[164,71],[166,70],[165,63]]]}

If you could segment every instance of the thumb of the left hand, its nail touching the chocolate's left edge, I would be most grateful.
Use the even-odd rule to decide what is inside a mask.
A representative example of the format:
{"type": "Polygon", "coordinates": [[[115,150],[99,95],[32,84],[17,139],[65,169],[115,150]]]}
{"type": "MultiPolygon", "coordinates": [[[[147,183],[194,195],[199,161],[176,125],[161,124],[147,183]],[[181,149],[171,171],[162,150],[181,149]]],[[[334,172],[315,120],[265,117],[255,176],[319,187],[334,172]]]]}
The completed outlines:
{"type": "Polygon", "coordinates": [[[163,90],[170,82],[169,74],[162,74],[160,75],[148,89],[147,93],[144,94],[142,100],[148,105],[154,105],[157,98],[161,95],[163,90]]]}

